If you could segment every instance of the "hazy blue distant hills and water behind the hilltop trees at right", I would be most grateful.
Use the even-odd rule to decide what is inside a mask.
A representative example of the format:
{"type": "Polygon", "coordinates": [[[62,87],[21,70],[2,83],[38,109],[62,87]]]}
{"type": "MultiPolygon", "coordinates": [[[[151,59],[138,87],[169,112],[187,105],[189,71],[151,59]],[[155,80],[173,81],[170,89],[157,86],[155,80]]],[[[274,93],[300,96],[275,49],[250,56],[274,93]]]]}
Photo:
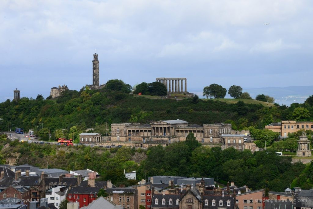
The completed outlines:
{"type": "MultiPolygon", "coordinates": [[[[228,90],[229,87],[226,87],[228,90]]],[[[201,88],[189,88],[194,94],[202,98],[201,88]]],[[[263,88],[244,88],[243,91],[249,92],[252,98],[258,94],[269,95],[275,98],[275,102],[282,105],[290,106],[292,103],[303,103],[310,96],[313,95],[313,86],[287,86],[287,87],[263,87],[263,88]]],[[[228,93],[228,92],[227,92],[228,93]]],[[[231,98],[228,94],[225,98],[231,98]]]]}

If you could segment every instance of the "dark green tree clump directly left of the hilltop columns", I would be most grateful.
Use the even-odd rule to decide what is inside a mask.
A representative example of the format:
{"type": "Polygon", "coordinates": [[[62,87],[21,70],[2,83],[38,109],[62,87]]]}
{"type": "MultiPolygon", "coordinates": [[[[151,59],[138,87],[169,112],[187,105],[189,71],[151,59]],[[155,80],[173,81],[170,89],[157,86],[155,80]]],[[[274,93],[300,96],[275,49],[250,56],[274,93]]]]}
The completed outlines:
{"type": "Polygon", "coordinates": [[[146,83],[142,82],[136,86],[135,94],[144,94],[152,96],[165,96],[167,95],[166,86],[160,82],[146,83]]]}

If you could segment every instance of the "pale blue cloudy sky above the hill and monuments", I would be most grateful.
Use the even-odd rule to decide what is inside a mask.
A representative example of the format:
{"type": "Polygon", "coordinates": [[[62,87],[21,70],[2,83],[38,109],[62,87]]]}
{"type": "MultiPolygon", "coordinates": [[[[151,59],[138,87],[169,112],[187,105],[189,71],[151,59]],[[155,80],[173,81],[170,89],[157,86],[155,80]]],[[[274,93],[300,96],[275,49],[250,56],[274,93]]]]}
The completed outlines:
{"type": "Polygon", "coordinates": [[[95,52],[100,83],[308,86],[312,25],[309,0],[0,0],[0,102],[80,90],[95,52]]]}

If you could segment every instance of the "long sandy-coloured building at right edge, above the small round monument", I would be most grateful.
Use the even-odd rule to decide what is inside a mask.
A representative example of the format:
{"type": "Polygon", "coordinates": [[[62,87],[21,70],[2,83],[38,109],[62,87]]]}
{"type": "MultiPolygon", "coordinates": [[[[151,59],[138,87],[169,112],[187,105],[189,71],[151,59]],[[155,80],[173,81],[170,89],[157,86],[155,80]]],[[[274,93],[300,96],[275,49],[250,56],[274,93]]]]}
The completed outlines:
{"type": "Polygon", "coordinates": [[[281,123],[271,123],[265,126],[265,129],[278,132],[282,137],[287,137],[288,133],[294,133],[299,131],[300,129],[313,131],[313,122],[288,120],[282,121],[281,123]]]}

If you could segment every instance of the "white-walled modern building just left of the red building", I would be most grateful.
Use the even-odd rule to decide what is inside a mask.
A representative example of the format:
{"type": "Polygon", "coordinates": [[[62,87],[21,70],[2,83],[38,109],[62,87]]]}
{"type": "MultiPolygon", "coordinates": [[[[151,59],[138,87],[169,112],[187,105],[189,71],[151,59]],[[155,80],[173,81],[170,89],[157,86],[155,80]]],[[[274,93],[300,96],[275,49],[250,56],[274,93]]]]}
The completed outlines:
{"type": "Polygon", "coordinates": [[[69,189],[69,185],[55,185],[46,190],[46,198],[48,204],[53,204],[56,208],[59,208],[62,200],[66,199],[66,192],[69,189]]]}

